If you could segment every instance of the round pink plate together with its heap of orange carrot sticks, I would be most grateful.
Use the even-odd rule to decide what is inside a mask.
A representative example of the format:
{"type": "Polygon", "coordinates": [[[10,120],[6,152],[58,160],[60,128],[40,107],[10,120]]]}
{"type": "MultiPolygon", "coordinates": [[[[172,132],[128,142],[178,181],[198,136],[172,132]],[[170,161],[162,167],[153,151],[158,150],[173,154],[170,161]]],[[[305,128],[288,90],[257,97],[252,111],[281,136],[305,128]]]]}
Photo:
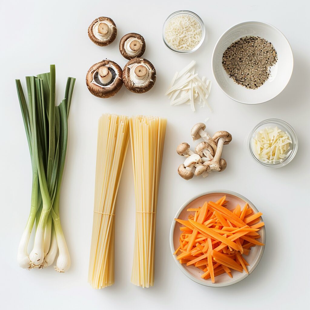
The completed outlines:
{"type": "Polygon", "coordinates": [[[170,229],[170,248],[181,271],[213,287],[246,278],[264,251],[262,213],[245,197],[226,190],[201,193],[179,209],[170,229]]]}

